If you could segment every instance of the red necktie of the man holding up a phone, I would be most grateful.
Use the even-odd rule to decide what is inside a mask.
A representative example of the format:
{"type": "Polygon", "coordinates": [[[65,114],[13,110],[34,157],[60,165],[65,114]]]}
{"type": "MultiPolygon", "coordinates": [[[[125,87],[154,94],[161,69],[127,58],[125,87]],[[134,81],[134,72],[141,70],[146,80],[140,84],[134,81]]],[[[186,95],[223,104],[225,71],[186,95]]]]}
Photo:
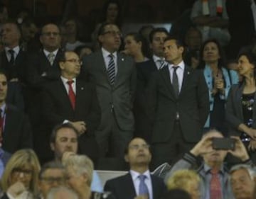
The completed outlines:
{"type": "Polygon", "coordinates": [[[218,176],[218,170],[210,170],[212,177],[210,179],[210,199],[221,199],[221,184],[218,176]]]}

